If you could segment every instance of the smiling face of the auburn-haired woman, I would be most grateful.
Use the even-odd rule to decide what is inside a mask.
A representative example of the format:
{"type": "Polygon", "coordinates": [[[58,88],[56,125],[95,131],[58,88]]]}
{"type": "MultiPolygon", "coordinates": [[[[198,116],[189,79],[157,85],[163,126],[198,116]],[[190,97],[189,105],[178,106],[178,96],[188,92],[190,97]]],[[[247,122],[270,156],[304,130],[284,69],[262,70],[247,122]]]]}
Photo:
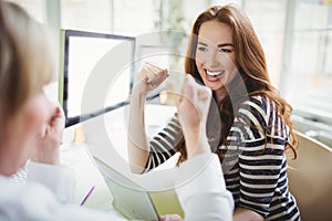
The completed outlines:
{"type": "Polygon", "coordinates": [[[225,85],[238,74],[231,28],[216,20],[204,22],[195,60],[204,84],[216,93],[225,93],[225,85]]]}

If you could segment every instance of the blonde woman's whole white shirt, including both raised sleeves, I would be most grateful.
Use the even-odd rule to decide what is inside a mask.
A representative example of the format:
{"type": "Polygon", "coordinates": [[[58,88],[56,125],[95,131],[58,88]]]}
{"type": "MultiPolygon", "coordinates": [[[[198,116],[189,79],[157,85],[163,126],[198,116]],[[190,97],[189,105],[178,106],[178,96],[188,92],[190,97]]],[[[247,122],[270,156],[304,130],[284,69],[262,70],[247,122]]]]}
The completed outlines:
{"type": "MultiPolygon", "coordinates": [[[[176,191],[186,220],[231,220],[234,201],[216,155],[196,156],[178,172],[176,191]]],[[[25,183],[0,176],[0,221],[116,220],[111,213],[70,203],[74,183],[69,168],[37,162],[30,162],[25,183]]]]}

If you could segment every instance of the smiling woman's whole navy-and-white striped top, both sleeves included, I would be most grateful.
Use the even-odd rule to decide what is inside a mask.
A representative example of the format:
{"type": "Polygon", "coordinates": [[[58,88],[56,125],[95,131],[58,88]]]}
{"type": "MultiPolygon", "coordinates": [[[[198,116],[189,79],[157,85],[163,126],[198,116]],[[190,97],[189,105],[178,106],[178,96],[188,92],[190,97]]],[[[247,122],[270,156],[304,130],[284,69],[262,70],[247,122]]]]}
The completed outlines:
{"type": "MultiPolygon", "coordinates": [[[[289,129],[277,115],[273,103],[263,96],[245,102],[227,137],[222,161],[226,186],[235,208],[257,211],[267,220],[300,220],[295,199],[289,192],[287,159],[283,152],[289,129]],[[264,133],[267,135],[264,135],[264,133]]],[[[183,136],[177,115],[151,141],[146,171],[175,154],[183,136]]]]}

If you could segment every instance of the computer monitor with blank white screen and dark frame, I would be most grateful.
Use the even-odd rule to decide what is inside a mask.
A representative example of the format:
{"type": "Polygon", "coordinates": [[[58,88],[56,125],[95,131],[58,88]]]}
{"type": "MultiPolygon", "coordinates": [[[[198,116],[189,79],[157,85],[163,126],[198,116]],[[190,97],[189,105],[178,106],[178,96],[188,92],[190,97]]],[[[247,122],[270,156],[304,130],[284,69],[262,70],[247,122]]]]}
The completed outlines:
{"type": "Polygon", "coordinates": [[[60,39],[59,101],[66,127],[127,104],[135,38],[61,30],[60,39]]]}

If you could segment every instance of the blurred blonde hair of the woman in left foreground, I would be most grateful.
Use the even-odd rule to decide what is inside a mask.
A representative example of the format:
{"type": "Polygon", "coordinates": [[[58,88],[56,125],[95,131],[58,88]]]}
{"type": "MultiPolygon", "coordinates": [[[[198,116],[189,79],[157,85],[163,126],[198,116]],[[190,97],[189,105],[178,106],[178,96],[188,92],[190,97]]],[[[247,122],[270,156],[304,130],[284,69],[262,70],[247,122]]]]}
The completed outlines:
{"type": "Polygon", "coordinates": [[[0,30],[1,123],[52,80],[55,56],[49,30],[18,4],[0,1],[0,30]]]}

